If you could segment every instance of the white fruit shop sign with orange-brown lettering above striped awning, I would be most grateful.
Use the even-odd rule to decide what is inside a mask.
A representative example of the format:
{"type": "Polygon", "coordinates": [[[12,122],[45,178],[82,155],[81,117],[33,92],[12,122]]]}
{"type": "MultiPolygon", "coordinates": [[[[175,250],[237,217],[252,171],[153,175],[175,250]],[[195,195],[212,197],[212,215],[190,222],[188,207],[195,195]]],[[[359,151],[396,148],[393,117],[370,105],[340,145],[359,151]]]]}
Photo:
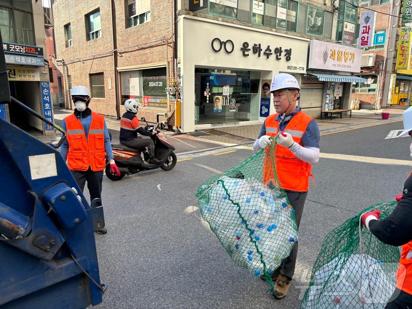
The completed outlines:
{"type": "Polygon", "coordinates": [[[325,41],[311,40],[308,68],[358,73],[362,49],[325,41]]]}

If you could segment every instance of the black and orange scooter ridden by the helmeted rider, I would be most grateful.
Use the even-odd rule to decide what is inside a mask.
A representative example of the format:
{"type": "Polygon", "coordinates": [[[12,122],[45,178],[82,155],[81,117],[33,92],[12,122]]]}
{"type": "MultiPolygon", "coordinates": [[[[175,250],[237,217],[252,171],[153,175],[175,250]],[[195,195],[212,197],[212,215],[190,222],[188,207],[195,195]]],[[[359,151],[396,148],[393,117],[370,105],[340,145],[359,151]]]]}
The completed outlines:
{"type": "MultiPolygon", "coordinates": [[[[146,122],[145,117],[140,119],[141,122],[145,122],[145,129],[149,132],[153,132],[155,129],[157,133],[160,133],[157,130],[158,124],[155,128],[153,125],[149,125],[146,122]]],[[[109,132],[110,140],[112,136],[109,132]]],[[[161,162],[159,164],[150,164],[149,153],[146,150],[146,147],[140,148],[130,148],[121,143],[112,143],[113,156],[115,157],[115,163],[120,171],[120,176],[113,175],[110,173],[110,164],[106,164],[106,176],[110,180],[120,180],[125,175],[132,175],[141,171],[147,171],[151,169],[158,169],[159,167],[164,171],[170,171],[175,167],[177,162],[177,157],[173,152],[175,147],[169,143],[166,138],[159,136],[159,134],[151,135],[150,138],[155,143],[155,157],[161,162]],[[142,158],[143,152],[143,158],[142,158]]]]}

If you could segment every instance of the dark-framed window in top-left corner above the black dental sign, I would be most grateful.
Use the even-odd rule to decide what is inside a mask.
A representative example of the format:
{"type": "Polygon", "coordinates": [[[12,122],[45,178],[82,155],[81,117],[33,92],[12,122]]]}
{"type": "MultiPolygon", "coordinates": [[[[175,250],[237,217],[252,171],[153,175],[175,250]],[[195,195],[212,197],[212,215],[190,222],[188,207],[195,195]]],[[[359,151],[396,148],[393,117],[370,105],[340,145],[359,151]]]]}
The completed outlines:
{"type": "Polygon", "coordinates": [[[0,30],[3,42],[35,45],[30,0],[0,0],[0,30]]]}

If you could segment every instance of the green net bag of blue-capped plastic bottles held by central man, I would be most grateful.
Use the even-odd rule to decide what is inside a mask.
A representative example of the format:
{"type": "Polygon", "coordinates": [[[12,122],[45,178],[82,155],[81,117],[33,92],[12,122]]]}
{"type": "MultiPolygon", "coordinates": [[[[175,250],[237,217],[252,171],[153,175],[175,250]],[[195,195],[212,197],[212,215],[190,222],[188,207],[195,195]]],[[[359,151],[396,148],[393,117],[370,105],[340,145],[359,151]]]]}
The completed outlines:
{"type": "Polygon", "coordinates": [[[199,185],[201,216],[232,261],[273,283],[297,241],[295,210],[276,176],[276,138],[255,155],[199,185]]]}

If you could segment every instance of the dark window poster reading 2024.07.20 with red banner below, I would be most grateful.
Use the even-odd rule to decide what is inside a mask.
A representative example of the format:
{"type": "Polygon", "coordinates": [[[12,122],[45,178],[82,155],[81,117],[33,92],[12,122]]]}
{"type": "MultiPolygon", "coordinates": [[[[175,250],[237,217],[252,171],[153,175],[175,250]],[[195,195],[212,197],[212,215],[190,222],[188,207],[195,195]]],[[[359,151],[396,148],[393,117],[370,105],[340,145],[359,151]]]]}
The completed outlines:
{"type": "Polygon", "coordinates": [[[142,71],[143,106],[167,109],[166,68],[142,71]]]}

